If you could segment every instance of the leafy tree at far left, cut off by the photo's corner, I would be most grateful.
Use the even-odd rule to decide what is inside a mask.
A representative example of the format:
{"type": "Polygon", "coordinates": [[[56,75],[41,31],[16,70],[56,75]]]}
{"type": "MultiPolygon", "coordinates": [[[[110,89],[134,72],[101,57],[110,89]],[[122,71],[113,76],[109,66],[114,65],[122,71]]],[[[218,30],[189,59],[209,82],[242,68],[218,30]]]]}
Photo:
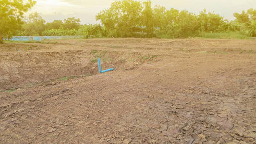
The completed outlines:
{"type": "Polygon", "coordinates": [[[0,43],[3,37],[15,35],[23,24],[24,12],[35,4],[34,0],[0,0],[0,43]]]}

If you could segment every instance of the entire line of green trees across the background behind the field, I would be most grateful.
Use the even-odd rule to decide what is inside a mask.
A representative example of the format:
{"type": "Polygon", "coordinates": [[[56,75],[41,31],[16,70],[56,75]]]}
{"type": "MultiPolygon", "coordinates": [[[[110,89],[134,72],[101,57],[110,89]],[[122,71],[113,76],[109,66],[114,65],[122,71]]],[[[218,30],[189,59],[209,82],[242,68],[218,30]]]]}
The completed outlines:
{"type": "Polygon", "coordinates": [[[34,4],[34,0],[0,1],[0,39],[4,36],[67,35],[187,38],[202,33],[226,32],[256,36],[256,9],[236,12],[233,14],[235,20],[229,21],[205,9],[195,14],[160,5],[152,6],[151,1],[116,0],[109,9],[96,15],[99,24],[80,24],[80,19],[74,17],[46,23],[37,12],[24,17],[24,12],[34,4]]]}

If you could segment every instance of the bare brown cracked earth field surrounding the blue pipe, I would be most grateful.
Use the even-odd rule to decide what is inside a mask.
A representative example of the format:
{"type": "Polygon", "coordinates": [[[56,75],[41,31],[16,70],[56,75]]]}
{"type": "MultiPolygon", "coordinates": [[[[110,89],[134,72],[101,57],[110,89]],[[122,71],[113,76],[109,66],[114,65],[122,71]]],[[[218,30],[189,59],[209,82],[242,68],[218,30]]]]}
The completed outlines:
{"type": "Polygon", "coordinates": [[[0,45],[8,143],[256,144],[256,40],[0,45]]]}

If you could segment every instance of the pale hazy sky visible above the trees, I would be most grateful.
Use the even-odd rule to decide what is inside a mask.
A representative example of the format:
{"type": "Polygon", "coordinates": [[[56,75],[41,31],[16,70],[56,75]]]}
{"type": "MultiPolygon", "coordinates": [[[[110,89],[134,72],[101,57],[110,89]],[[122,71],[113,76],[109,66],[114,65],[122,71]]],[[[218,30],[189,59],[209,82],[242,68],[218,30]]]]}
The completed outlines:
{"type": "MultiPolygon", "coordinates": [[[[98,12],[110,8],[114,0],[36,0],[37,4],[28,12],[38,12],[46,22],[64,20],[68,17],[80,18],[81,24],[98,24],[98,12]]],[[[146,1],[146,0],[138,0],[146,1]]],[[[167,9],[187,10],[198,14],[203,9],[215,12],[228,20],[233,13],[256,9],[256,0],[151,0],[152,6],[161,5],[167,9]]]]}

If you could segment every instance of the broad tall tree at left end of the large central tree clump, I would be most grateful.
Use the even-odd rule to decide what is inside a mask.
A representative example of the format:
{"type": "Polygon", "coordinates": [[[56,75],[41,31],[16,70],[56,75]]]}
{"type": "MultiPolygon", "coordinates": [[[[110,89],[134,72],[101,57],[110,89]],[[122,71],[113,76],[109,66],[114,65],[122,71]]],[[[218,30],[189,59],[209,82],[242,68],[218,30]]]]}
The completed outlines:
{"type": "Polygon", "coordinates": [[[134,27],[141,26],[141,2],[135,0],[114,1],[109,9],[97,14],[96,20],[104,25],[109,36],[134,36],[134,27]]]}

